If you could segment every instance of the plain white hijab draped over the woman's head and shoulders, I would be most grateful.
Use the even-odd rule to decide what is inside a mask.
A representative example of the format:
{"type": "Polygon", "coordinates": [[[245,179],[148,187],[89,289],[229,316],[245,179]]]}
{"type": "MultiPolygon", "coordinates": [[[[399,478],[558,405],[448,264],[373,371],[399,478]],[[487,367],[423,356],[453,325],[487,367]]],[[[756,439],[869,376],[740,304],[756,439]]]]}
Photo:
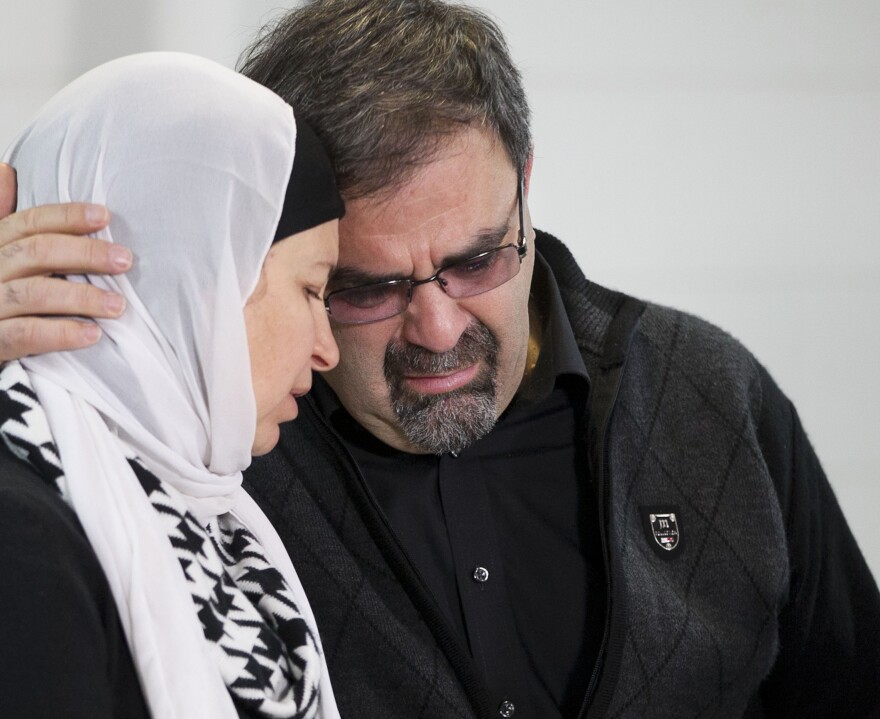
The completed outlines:
{"type": "MultiPolygon", "coordinates": [[[[278,224],[294,156],[291,108],[210,61],[122,58],[39,113],[6,161],[19,209],[90,201],[100,236],[135,255],[126,276],[80,281],[125,295],[97,345],[22,361],[48,416],[71,503],[116,600],[156,717],[237,717],[136,454],[200,523],[234,513],[314,619],[275,530],[241,488],[256,406],[242,308],[278,224]]],[[[321,653],[321,708],[338,716],[321,653]]]]}

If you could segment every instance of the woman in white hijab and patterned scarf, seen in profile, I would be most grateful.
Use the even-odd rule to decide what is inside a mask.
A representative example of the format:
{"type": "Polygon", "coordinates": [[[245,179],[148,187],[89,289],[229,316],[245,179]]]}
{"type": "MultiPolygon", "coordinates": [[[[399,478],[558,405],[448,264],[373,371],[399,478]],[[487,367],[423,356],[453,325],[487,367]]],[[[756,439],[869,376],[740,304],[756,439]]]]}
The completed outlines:
{"type": "Polygon", "coordinates": [[[338,716],[241,488],[338,359],[326,155],[265,88],[149,53],[62,90],[7,161],[20,208],[105,204],[136,262],[82,278],[128,303],[97,345],[0,372],[0,716],[338,716]]]}

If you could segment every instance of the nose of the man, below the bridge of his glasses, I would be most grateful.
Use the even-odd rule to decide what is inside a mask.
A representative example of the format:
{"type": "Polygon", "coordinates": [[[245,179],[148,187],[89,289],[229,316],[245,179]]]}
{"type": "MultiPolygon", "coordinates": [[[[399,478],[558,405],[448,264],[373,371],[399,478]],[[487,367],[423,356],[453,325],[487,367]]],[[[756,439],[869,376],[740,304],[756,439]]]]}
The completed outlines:
{"type": "Polygon", "coordinates": [[[403,313],[403,337],[430,352],[448,352],[471,323],[471,316],[437,282],[413,288],[403,313]]]}

